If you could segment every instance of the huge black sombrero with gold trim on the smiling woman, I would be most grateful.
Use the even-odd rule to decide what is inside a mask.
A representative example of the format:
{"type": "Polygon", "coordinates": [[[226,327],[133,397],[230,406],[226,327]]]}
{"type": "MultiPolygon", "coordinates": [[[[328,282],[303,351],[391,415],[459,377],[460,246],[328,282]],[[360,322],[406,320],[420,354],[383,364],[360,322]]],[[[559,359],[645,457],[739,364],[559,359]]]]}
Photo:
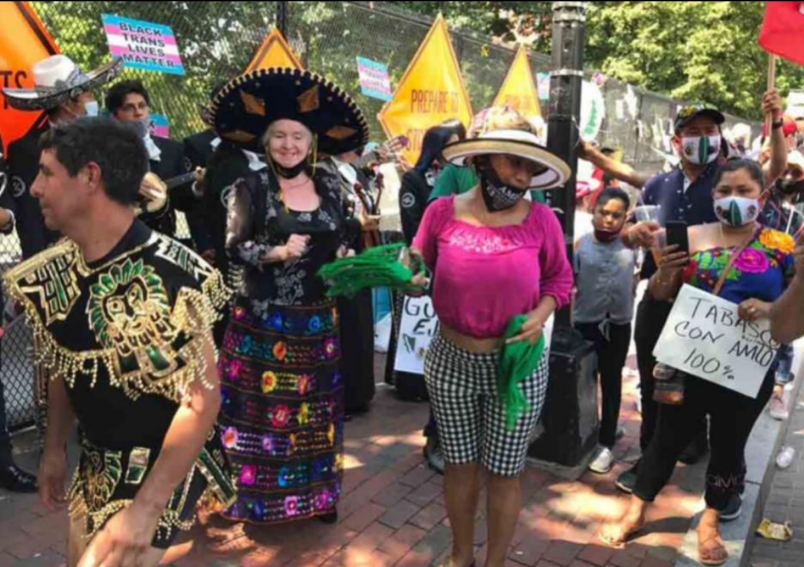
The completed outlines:
{"type": "Polygon", "coordinates": [[[218,135],[262,151],[261,138],[276,120],[301,122],[317,136],[318,151],[339,155],[366,144],[368,123],[352,98],[321,75],[299,69],[257,69],[227,84],[212,99],[218,135]]]}

